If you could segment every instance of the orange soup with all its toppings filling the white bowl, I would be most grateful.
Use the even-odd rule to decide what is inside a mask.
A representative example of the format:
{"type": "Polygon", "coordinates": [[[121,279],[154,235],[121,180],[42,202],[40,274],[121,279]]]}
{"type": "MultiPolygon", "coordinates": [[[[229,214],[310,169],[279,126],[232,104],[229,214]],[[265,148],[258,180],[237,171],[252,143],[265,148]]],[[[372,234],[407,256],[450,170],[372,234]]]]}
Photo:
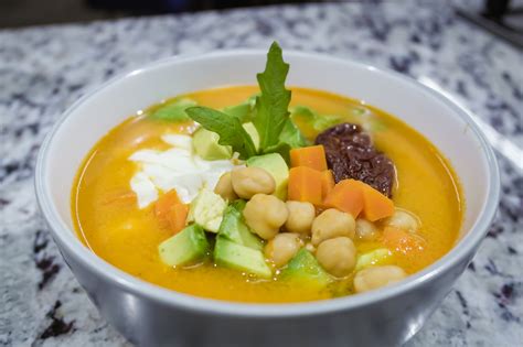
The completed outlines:
{"type": "Polygon", "coordinates": [[[178,96],[107,133],[72,192],[85,246],[157,285],[256,303],[375,290],[452,247],[459,184],[423,135],[362,101],[299,87],[289,116],[264,122],[281,105],[260,79],[262,90],[178,96]],[[212,131],[220,117],[234,121],[216,132],[236,135],[212,131]]]}

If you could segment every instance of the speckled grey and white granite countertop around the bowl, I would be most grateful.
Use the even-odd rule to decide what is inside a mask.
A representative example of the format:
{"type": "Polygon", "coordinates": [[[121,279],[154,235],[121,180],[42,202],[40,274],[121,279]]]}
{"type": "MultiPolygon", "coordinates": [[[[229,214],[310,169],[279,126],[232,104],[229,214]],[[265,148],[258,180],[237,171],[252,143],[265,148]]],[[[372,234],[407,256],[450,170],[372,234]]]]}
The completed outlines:
{"type": "Polygon", "coordinates": [[[284,48],[396,69],[477,115],[500,163],[500,210],[473,262],[407,345],[521,346],[523,52],[442,2],[288,6],[0,31],[0,345],[127,344],[64,264],[36,207],[36,152],[61,112],[92,87],[158,58],[266,48],[277,40],[284,48]]]}

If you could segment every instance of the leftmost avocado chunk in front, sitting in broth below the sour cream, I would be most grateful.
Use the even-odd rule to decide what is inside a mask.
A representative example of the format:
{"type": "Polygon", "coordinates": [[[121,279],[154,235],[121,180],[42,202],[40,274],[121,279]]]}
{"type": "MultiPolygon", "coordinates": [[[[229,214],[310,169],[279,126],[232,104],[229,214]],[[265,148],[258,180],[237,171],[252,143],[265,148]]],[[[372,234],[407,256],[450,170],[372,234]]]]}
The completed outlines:
{"type": "Polygon", "coordinates": [[[210,250],[203,228],[198,224],[185,227],[158,246],[160,259],[168,265],[190,265],[202,261],[210,250]]]}

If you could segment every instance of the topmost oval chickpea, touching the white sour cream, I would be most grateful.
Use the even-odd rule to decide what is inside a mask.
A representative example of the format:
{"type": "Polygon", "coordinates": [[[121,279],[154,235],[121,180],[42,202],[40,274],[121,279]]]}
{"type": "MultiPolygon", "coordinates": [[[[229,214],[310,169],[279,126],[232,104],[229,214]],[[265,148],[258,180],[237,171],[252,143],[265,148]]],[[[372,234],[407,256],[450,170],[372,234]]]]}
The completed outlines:
{"type": "Polygon", "coordinates": [[[252,198],[255,194],[273,194],[275,178],[260,167],[239,167],[231,173],[234,192],[242,198],[252,198]]]}

